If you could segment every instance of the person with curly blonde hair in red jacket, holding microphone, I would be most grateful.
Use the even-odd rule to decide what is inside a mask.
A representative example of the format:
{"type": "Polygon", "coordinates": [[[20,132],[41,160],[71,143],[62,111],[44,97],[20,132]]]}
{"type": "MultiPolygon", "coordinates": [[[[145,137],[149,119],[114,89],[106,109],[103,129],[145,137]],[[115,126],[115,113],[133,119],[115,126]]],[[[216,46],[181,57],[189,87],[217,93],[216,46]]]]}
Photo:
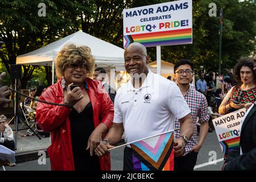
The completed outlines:
{"type": "Polygon", "coordinates": [[[110,155],[94,150],[113,122],[113,104],[100,82],[90,79],[94,57],[89,47],[67,44],[55,60],[58,82],[40,99],[69,107],[39,102],[36,122],[51,133],[47,149],[52,170],[110,170],[110,155]],[[78,85],[74,86],[72,85],[78,85]]]}

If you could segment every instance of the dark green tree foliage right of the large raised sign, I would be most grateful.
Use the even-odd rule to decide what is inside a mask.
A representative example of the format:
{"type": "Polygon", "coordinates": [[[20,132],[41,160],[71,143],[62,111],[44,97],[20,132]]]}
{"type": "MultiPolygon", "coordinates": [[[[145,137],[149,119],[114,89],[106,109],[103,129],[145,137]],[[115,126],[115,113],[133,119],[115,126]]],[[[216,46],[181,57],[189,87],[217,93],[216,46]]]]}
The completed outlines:
{"type": "Polygon", "coordinates": [[[184,58],[192,60],[197,71],[218,71],[219,12],[223,9],[222,69],[233,68],[237,60],[255,52],[255,1],[193,1],[193,44],[162,48],[163,60],[176,63],[184,58]],[[217,17],[210,17],[209,3],[216,3],[217,17]]]}

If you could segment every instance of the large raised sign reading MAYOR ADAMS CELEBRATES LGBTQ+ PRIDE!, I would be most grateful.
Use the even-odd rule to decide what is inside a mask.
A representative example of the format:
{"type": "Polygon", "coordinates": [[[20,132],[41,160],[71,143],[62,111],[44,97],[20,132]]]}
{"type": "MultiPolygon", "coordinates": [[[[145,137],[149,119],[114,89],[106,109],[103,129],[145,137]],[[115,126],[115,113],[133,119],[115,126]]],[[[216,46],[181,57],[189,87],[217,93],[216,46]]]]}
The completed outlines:
{"type": "Polygon", "coordinates": [[[192,44],[192,0],[123,10],[123,47],[192,44]]]}

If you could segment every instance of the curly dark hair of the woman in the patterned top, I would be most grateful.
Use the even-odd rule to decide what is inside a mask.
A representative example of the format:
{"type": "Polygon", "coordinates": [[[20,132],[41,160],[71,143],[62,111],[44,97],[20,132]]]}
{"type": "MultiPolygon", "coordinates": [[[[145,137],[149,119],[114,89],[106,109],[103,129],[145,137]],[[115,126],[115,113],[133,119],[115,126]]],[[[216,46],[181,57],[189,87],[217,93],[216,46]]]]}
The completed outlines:
{"type": "Polygon", "coordinates": [[[234,67],[234,78],[238,82],[238,84],[241,83],[241,76],[240,76],[240,70],[242,67],[249,67],[251,71],[253,72],[254,82],[256,80],[256,73],[253,71],[254,68],[254,61],[253,59],[249,59],[247,57],[244,57],[240,60],[238,60],[238,63],[234,67]]]}

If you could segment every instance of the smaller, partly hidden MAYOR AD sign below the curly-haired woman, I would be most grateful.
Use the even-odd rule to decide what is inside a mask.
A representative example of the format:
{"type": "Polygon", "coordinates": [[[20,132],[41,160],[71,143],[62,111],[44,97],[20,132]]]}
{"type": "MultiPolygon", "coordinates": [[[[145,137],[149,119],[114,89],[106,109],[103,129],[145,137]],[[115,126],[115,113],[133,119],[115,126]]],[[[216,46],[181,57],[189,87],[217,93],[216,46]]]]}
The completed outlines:
{"type": "Polygon", "coordinates": [[[225,155],[239,147],[240,124],[245,112],[246,109],[242,108],[212,120],[218,141],[220,142],[221,151],[225,155]]]}

